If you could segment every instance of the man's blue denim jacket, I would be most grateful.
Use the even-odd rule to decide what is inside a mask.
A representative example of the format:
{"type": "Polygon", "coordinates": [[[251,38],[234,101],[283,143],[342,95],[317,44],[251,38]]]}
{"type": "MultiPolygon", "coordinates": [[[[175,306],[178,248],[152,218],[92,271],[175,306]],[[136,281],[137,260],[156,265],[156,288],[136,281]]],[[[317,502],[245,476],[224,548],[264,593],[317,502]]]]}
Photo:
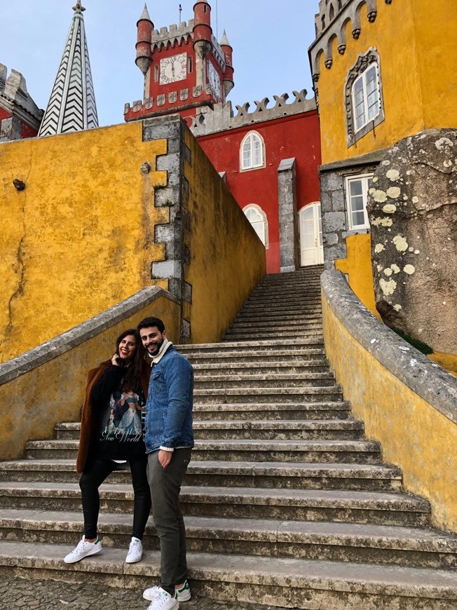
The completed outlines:
{"type": "Polygon", "coordinates": [[[146,400],[146,453],[193,447],[193,368],[170,346],[154,366],[146,400]]]}

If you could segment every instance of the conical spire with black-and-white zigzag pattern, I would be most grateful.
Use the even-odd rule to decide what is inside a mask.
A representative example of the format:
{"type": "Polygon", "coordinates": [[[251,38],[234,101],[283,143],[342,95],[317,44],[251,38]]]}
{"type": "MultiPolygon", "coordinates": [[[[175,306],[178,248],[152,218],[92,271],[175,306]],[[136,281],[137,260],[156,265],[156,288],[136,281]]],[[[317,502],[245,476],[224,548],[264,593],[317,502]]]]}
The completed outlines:
{"type": "Polygon", "coordinates": [[[98,127],[97,107],[90,72],[88,46],[80,1],[65,43],[60,67],[43,116],[39,136],[98,127]]]}

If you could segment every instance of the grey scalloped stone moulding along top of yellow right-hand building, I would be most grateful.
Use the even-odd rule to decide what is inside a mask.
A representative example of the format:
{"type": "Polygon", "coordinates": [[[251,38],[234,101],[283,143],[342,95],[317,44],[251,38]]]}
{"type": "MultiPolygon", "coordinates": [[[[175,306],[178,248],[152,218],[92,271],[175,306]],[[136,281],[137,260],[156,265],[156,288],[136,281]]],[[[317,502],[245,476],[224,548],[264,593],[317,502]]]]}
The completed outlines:
{"type": "MultiPolygon", "coordinates": [[[[346,25],[350,22],[350,32],[353,39],[360,38],[362,33],[362,7],[366,6],[367,21],[373,23],[378,15],[378,3],[381,0],[346,0],[346,2],[338,9],[336,0],[330,0],[327,4],[325,1],[320,1],[320,13],[316,15],[316,32],[317,36],[313,44],[310,46],[308,53],[311,62],[311,71],[319,78],[319,63],[320,55],[325,55],[325,67],[330,69],[333,65],[334,57],[332,56],[333,39],[336,38],[338,53],[344,55],[346,53],[346,25]],[[336,15],[332,20],[329,20],[329,8],[334,6],[336,15]],[[327,14],[328,13],[328,14],[327,14]],[[322,28],[322,16],[325,18],[326,27],[322,28]]],[[[385,4],[392,4],[392,0],[385,0],[385,4]]],[[[317,82],[315,80],[314,82],[317,82]]]]}

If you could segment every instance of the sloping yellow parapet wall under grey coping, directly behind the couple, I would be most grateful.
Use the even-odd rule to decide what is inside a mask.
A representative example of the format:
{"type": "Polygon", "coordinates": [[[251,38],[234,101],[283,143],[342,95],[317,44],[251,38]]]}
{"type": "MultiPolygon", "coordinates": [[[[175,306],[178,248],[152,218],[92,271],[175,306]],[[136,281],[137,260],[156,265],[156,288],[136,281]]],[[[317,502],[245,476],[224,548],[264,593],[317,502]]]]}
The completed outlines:
{"type": "Polygon", "coordinates": [[[88,370],[111,358],[116,337],[147,316],[164,320],[170,339],[179,341],[179,305],[159,294],[122,322],[3,384],[1,392],[8,400],[0,407],[0,460],[22,456],[27,440],[53,438],[56,423],[79,421],[88,370]]]}

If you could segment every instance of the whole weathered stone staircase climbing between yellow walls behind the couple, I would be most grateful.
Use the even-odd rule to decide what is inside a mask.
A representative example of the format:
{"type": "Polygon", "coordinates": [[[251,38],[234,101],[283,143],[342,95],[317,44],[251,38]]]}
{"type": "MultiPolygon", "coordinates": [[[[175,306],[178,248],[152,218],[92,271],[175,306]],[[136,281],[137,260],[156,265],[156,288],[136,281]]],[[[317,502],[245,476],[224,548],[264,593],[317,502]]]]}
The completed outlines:
{"type": "MultiPolygon", "coordinates": [[[[329,371],[321,271],[266,276],[223,343],[179,347],[196,372],[181,496],[193,592],[313,610],[456,609],[457,539],[404,493],[329,371]]],[[[61,423],[55,440],[0,463],[0,574],[137,588],[141,607],[158,539],[150,524],[142,562],[123,562],[128,473],[101,488],[103,553],[62,561],[83,527],[78,438],[78,423],[61,423]]]]}

